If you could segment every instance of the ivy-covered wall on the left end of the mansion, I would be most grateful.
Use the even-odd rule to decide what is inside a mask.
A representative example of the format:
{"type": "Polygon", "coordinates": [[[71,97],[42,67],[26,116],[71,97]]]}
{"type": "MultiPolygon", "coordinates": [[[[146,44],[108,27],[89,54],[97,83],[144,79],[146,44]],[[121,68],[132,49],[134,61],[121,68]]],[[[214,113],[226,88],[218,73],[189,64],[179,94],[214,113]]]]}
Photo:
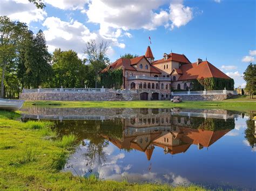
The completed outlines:
{"type": "Polygon", "coordinates": [[[123,70],[114,69],[100,74],[100,85],[104,88],[121,89],[123,84],[123,70]]]}

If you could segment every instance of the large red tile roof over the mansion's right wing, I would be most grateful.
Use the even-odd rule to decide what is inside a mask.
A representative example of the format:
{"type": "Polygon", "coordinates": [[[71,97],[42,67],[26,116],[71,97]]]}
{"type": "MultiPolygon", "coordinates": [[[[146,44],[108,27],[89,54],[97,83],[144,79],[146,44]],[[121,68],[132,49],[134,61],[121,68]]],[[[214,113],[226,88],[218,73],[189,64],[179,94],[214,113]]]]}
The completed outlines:
{"type": "Polygon", "coordinates": [[[180,80],[192,80],[192,79],[201,79],[207,77],[218,77],[223,79],[230,79],[226,74],[221,72],[218,68],[213,66],[208,61],[202,61],[197,65],[197,62],[182,65],[180,67],[183,75],[181,75],[178,79],[180,80]]]}

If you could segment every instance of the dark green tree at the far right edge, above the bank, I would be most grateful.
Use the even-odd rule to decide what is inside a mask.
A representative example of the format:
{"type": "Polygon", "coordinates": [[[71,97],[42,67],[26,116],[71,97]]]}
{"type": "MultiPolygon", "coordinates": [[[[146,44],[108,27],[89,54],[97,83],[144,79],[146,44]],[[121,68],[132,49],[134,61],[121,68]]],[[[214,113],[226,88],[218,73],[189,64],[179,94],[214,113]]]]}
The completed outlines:
{"type": "Polygon", "coordinates": [[[244,72],[244,80],[246,81],[245,90],[249,92],[250,98],[256,91],[256,65],[250,63],[244,72]]]}

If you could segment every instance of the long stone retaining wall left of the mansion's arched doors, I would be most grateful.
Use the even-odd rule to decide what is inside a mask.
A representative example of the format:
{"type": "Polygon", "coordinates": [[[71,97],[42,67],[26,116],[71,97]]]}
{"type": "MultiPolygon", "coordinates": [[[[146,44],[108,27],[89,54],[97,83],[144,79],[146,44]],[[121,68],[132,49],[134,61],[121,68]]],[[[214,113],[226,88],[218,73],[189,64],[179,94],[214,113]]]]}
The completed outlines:
{"type": "Polygon", "coordinates": [[[105,93],[22,93],[21,100],[51,100],[51,101],[133,101],[139,100],[137,93],[118,93],[108,90],[105,93]]]}

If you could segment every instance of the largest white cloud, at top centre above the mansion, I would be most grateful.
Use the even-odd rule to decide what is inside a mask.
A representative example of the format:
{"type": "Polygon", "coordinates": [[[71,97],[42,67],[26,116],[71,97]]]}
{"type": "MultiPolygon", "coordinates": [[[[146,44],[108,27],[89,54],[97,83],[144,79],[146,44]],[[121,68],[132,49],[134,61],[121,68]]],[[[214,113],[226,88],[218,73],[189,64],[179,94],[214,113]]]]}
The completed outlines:
{"type": "Polygon", "coordinates": [[[171,1],[170,10],[159,10],[167,0],[98,0],[90,1],[88,8],[82,10],[90,23],[100,26],[103,37],[122,36],[127,30],[154,30],[158,26],[180,27],[186,25],[193,18],[192,8],[183,5],[183,1],[171,1]],[[158,11],[159,12],[156,12],[158,11]]]}

